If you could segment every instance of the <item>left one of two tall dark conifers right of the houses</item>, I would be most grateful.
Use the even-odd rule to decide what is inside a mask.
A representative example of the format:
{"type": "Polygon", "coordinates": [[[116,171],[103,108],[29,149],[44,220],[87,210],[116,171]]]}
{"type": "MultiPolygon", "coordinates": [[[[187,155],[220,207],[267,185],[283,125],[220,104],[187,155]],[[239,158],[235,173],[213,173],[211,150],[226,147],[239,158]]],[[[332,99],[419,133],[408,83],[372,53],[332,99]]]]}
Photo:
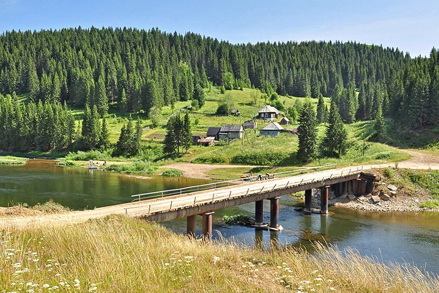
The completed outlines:
{"type": "Polygon", "coordinates": [[[303,162],[309,162],[315,155],[316,124],[314,108],[311,103],[307,102],[300,111],[299,127],[297,128],[299,137],[297,155],[303,162]]]}

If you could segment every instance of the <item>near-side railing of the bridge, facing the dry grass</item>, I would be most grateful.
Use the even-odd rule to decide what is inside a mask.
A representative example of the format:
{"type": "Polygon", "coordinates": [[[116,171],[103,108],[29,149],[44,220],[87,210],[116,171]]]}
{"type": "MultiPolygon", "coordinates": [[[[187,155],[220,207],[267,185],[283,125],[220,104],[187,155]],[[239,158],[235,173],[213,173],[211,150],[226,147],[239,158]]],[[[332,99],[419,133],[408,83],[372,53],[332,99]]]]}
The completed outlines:
{"type": "MultiPolygon", "coordinates": [[[[145,205],[137,205],[137,206],[127,207],[127,208],[125,208],[125,213],[126,213],[126,215],[131,215],[131,216],[135,216],[135,215],[145,216],[145,215],[150,215],[150,214],[155,213],[155,212],[163,212],[163,211],[169,211],[169,210],[178,209],[178,208],[185,208],[185,207],[196,206],[196,205],[200,205],[200,204],[210,204],[210,203],[215,203],[217,201],[240,198],[243,196],[247,196],[248,194],[274,191],[277,189],[285,189],[285,188],[289,188],[289,187],[300,186],[300,185],[309,184],[309,183],[318,182],[318,181],[324,182],[325,179],[328,180],[328,179],[335,178],[335,177],[342,177],[343,175],[348,176],[348,175],[358,174],[361,172],[363,172],[363,166],[356,167],[356,168],[350,168],[349,170],[347,170],[347,169],[341,170],[340,172],[332,173],[329,176],[328,175],[322,176],[322,178],[318,177],[318,178],[312,178],[312,179],[307,179],[307,180],[304,180],[302,178],[302,180],[298,179],[296,181],[289,180],[286,184],[285,184],[285,182],[280,183],[278,181],[277,182],[276,181],[258,181],[258,184],[255,184],[253,186],[249,186],[248,188],[243,186],[242,188],[235,190],[235,191],[227,191],[227,190],[213,191],[212,193],[207,193],[207,194],[202,194],[202,195],[193,194],[191,196],[172,198],[172,199],[168,199],[168,200],[164,200],[164,201],[151,202],[151,203],[148,203],[145,205]],[[142,210],[138,211],[136,214],[135,211],[134,211],[134,213],[132,212],[133,209],[137,209],[137,210],[142,209],[142,210]],[[146,212],[146,210],[147,210],[147,212],[146,212]]],[[[282,172],[282,173],[285,173],[285,172],[282,172]]]]}

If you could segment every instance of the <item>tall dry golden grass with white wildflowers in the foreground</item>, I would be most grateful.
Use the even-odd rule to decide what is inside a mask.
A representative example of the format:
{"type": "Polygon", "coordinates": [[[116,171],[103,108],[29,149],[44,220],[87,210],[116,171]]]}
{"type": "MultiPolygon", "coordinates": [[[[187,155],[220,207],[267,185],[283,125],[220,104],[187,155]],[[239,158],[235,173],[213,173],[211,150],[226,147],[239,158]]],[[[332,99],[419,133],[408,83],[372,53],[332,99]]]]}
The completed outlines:
{"type": "Polygon", "coordinates": [[[263,252],[188,239],[123,216],[62,228],[9,228],[0,237],[3,292],[439,290],[437,279],[415,268],[384,266],[355,251],[345,257],[323,246],[315,255],[290,248],[263,252]]]}

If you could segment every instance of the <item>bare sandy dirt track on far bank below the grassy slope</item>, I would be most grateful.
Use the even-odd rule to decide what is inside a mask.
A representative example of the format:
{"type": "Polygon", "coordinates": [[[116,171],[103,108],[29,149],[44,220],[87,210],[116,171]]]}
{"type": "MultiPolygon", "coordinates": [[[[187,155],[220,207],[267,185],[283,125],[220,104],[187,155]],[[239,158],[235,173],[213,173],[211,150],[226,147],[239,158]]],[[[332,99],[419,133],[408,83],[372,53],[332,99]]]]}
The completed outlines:
{"type": "Polygon", "coordinates": [[[220,168],[257,168],[268,166],[252,166],[252,165],[209,165],[209,164],[192,164],[192,163],[172,163],[160,168],[177,169],[183,172],[183,176],[197,179],[210,179],[206,175],[207,172],[220,168]]]}

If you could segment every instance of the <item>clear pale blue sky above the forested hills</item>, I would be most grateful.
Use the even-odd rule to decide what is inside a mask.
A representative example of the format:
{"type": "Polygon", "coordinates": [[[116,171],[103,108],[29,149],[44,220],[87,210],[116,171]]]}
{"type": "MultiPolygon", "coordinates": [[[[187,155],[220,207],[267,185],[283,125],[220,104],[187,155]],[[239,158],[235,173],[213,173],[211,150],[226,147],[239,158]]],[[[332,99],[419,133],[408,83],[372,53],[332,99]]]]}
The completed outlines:
{"type": "Polygon", "coordinates": [[[439,47],[439,1],[0,0],[0,32],[79,25],[193,31],[231,43],[357,41],[413,57],[439,47]]]}

